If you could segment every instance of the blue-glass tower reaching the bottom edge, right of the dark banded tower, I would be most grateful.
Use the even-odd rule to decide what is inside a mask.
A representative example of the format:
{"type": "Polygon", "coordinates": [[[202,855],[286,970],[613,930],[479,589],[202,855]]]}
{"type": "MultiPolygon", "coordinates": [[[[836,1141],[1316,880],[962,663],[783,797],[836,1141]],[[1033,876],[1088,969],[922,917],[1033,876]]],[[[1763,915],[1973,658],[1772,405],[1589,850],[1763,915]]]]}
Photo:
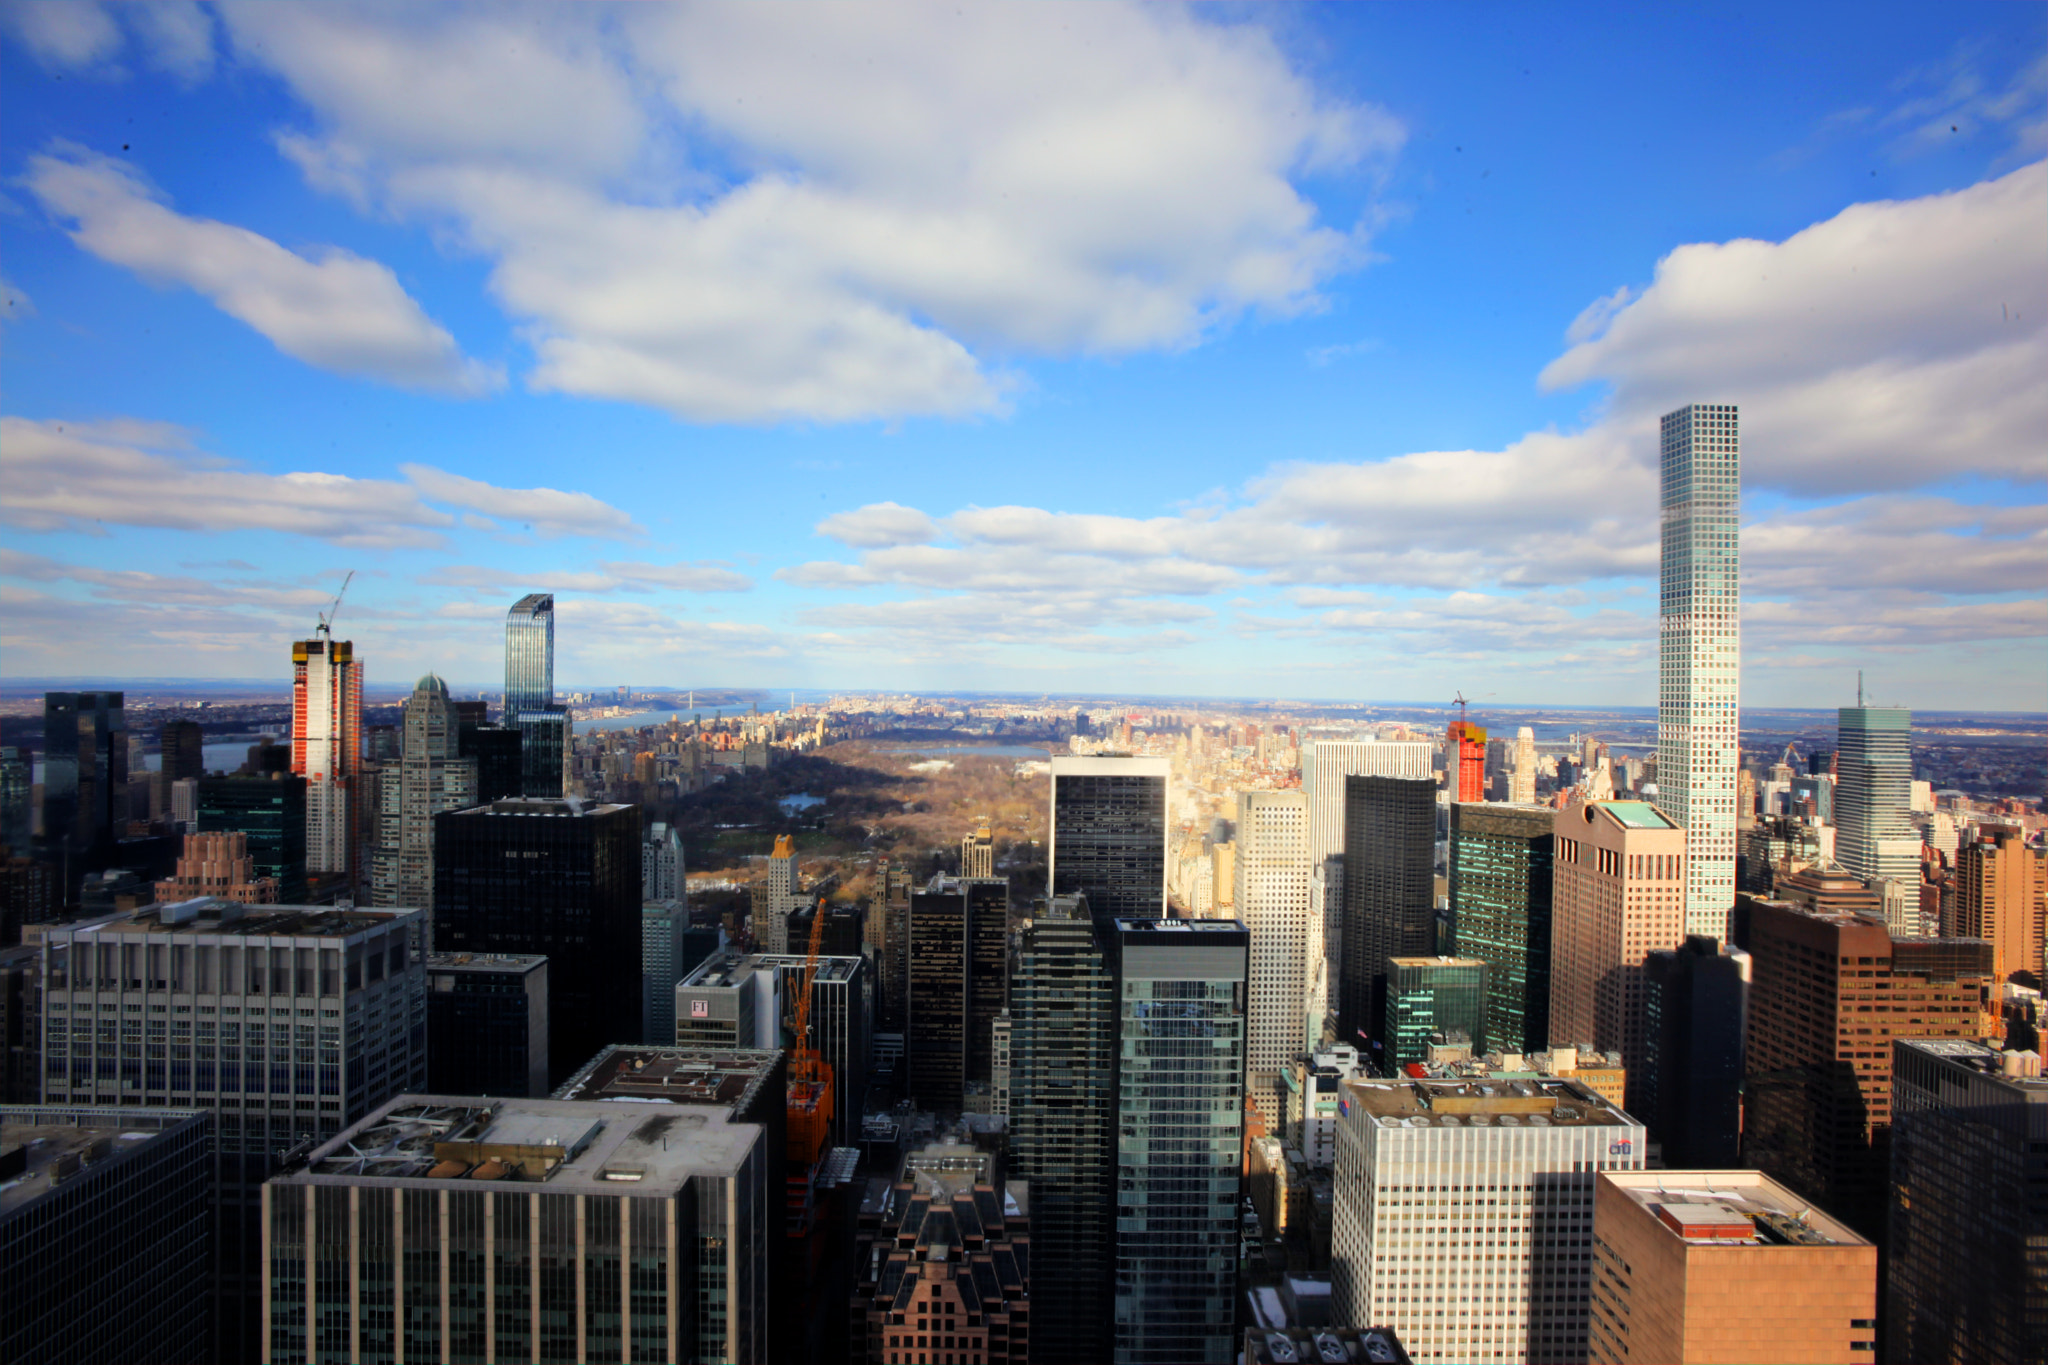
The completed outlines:
{"type": "Polygon", "coordinates": [[[1225,919],[1114,921],[1118,980],[1112,1359],[1231,1359],[1245,1150],[1245,970],[1225,919]]]}

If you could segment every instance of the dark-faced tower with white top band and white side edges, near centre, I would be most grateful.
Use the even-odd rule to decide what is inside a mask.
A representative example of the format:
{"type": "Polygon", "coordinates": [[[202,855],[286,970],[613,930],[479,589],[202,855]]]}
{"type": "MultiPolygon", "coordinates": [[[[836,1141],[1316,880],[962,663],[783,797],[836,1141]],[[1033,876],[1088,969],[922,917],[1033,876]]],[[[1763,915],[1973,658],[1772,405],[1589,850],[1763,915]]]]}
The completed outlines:
{"type": "Polygon", "coordinates": [[[1053,755],[1051,894],[1098,919],[1165,915],[1167,759],[1053,755]]]}

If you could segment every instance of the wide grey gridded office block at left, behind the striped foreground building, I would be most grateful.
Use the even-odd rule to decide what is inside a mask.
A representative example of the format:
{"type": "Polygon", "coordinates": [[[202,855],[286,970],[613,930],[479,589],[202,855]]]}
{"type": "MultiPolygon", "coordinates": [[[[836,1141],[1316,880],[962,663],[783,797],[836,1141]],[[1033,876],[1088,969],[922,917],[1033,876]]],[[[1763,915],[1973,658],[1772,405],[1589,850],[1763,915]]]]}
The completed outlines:
{"type": "Polygon", "coordinates": [[[426,1081],[424,950],[424,911],[217,898],[43,935],[43,1101],[217,1113],[223,1359],[262,1351],[279,1154],[426,1081]]]}

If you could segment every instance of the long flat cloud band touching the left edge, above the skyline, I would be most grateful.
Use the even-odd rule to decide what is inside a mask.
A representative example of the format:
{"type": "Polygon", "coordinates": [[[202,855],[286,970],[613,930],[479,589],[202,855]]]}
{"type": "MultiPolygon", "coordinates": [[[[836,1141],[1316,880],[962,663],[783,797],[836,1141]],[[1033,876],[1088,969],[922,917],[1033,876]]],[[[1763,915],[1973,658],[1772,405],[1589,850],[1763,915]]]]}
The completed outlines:
{"type": "Polygon", "coordinates": [[[502,489],[424,465],[403,467],[408,483],[236,469],[168,424],[0,417],[0,522],[20,530],[283,530],[352,546],[432,546],[455,524],[430,505],[442,501],[549,536],[637,532],[588,493],[502,489]]]}

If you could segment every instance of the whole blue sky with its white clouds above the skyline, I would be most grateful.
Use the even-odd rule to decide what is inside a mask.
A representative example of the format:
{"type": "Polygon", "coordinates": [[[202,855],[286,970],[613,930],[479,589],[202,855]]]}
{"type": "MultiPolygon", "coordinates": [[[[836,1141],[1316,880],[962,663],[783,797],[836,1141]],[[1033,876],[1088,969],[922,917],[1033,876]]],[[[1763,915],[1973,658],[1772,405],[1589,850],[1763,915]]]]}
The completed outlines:
{"type": "Polygon", "coordinates": [[[2048,10],[37,2],[0,669],[2048,696],[2048,10]]]}

